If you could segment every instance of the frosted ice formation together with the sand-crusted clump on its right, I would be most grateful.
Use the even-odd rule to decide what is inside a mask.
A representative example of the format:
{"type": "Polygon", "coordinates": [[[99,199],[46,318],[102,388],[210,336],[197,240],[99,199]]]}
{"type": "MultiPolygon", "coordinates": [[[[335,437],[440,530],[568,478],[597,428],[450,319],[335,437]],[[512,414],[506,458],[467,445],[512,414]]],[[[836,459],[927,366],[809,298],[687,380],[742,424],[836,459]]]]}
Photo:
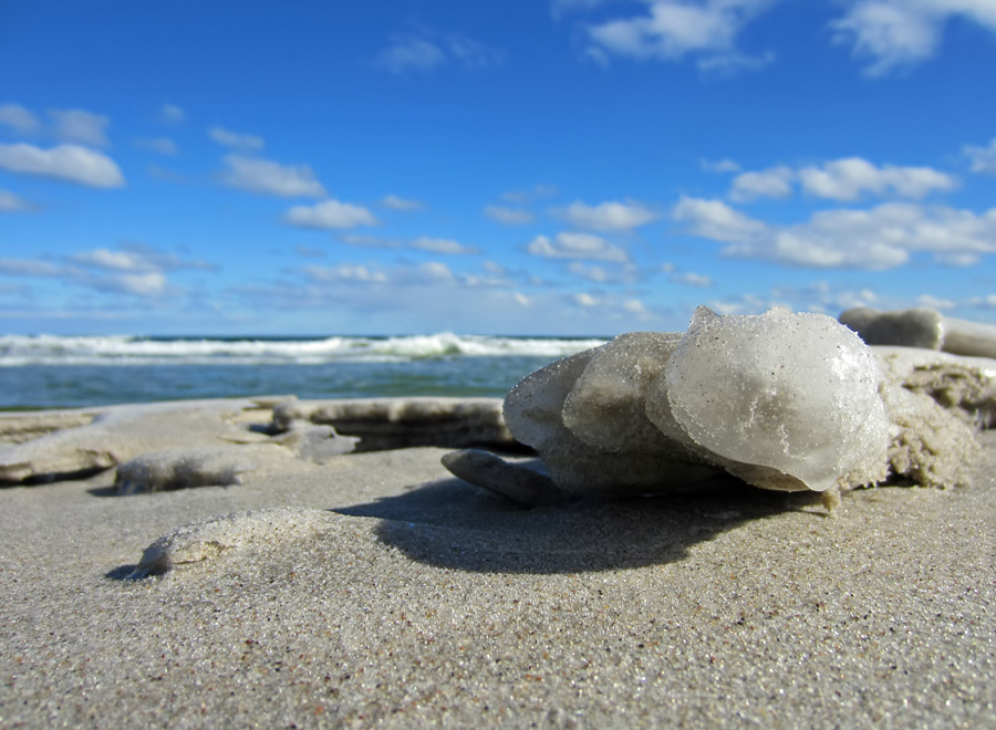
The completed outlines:
{"type": "MultiPolygon", "coordinates": [[[[876,355],[822,314],[698,307],[685,333],[627,333],[532,373],[505,417],[570,494],[654,493],[722,471],[828,505],[890,476],[962,483],[974,429],[996,414],[996,362],[895,350],[876,355]]],[[[507,491],[495,463],[457,463],[507,491]]],[[[528,503],[523,484],[515,499],[528,503]]]]}

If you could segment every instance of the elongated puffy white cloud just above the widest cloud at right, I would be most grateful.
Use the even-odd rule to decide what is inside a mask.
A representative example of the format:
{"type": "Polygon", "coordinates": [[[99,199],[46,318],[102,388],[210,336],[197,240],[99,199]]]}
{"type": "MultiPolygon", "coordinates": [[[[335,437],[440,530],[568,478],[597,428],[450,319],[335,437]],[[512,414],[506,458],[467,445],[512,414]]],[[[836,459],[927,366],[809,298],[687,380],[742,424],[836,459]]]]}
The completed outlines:
{"type": "Polygon", "coordinates": [[[956,178],[930,167],[875,167],[860,157],[837,159],[822,168],[803,167],[798,175],[807,192],[839,201],[857,200],[863,192],[923,198],[934,190],[957,186],[956,178]]]}

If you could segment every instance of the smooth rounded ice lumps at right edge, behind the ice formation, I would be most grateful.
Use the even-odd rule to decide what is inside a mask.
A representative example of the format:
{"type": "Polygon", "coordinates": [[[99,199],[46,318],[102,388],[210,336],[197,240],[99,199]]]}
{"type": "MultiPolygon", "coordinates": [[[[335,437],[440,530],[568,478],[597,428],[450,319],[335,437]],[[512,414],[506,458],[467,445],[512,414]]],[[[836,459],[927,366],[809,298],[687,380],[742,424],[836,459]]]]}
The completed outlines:
{"type": "Polygon", "coordinates": [[[996,325],[944,316],[928,307],[880,312],[855,306],[839,317],[869,345],[942,350],[955,355],[996,357],[996,325]]]}

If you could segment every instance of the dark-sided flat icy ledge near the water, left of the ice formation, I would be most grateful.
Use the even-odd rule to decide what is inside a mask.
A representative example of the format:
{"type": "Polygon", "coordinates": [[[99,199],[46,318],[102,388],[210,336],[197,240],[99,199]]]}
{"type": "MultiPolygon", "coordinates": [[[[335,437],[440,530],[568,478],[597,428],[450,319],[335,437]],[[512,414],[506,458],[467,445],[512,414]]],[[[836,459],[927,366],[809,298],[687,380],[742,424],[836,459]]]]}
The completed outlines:
{"type": "Polygon", "coordinates": [[[324,425],[356,437],[356,451],[417,446],[458,449],[478,444],[516,446],[501,417],[500,398],[289,399],[273,408],[271,430],[324,425]]]}

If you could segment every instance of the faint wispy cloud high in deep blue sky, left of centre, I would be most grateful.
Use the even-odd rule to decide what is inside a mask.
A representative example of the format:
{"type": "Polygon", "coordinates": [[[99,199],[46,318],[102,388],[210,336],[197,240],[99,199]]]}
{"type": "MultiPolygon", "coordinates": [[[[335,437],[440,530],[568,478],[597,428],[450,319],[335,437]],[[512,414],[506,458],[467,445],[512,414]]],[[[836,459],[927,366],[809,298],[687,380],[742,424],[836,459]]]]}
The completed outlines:
{"type": "Polygon", "coordinates": [[[391,44],[381,51],[374,63],[392,73],[432,71],[448,63],[467,70],[498,66],[505,51],[458,33],[393,35],[391,44]]]}

